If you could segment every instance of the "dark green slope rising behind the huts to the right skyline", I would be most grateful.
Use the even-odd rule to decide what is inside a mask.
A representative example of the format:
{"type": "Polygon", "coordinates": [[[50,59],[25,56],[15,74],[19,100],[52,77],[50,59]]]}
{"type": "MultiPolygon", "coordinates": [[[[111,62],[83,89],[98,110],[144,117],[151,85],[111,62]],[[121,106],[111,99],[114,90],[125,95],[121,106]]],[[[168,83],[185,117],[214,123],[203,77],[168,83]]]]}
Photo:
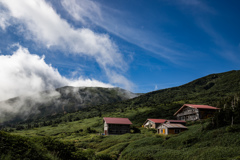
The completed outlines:
{"type": "MultiPolygon", "coordinates": [[[[148,111],[130,117],[132,121],[141,124],[146,118],[175,118],[173,114],[184,103],[207,104],[222,107],[224,99],[240,92],[240,71],[229,71],[211,74],[179,87],[150,92],[139,97],[88,108],[88,112],[99,107],[105,113],[117,110],[138,110],[150,108],[148,111]]],[[[98,110],[100,110],[97,108],[98,110]]]]}

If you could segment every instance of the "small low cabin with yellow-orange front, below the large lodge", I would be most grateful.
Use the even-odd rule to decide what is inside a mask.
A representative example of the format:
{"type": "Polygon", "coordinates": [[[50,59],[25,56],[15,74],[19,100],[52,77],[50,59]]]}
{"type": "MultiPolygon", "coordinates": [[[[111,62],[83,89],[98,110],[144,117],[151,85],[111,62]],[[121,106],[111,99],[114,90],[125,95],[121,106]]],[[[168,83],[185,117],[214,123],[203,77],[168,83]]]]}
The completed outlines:
{"type": "Polygon", "coordinates": [[[178,123],[163,123],[157,128],[157,133],[162,135],[178,134],[187,130],[187,127],[178,123]]]}

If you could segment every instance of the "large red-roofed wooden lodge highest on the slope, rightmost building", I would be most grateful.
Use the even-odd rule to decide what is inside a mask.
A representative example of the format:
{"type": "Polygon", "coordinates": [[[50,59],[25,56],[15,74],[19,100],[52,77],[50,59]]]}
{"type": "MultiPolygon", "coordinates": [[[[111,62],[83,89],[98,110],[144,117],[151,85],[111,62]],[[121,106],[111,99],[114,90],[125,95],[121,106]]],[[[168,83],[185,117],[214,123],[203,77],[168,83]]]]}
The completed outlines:
{"type": "Polygon", "coordinates": [[[208,105],[184,104],[175,114],[178,120],[195,121],[212,117],[219,110],[208,105]]]}

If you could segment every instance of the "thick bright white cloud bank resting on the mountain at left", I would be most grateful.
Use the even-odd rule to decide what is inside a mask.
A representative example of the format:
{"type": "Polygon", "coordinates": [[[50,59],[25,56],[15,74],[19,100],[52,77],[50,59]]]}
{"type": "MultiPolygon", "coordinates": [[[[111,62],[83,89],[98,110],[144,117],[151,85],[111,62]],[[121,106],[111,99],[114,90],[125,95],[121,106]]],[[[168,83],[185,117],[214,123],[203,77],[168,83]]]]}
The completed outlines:
{"type": "Polygon", "coordinates": [[[62,86],[113,87],[94,79],[67,79],[46,64],[44,56],[30,54],[21,46],[12,55],[0,56],[0,75],[0,100],[62,86]]]}

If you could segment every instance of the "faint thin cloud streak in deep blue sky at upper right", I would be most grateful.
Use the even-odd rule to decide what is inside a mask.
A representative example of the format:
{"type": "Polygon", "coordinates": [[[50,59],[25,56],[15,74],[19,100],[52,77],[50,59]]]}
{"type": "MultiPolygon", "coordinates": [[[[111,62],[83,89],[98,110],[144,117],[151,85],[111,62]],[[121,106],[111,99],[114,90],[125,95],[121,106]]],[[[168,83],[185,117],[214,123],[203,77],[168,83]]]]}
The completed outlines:
{"type": "MultiPolygon", "coordinates": [[[[214,19],[219,13],[213,9],[212,7],[208,6],[201,0],[180,0],[178,1],[179,7],[181,8],[184,6],[191,10],[192,17],[196,23],[196,25],[205,32],[212,42],[215,43],[217,46],[215,48],[215,52],[220,54],[223,58],[226,58],[232,62],[239,62],[239,52],[237,46],[233,46],[230,44],[226,38],[224,38],[220,33],[218,33],[217,28],[218,26],[214,26],[211,23],[211,19],[214,19]],[[206,17],[207,15],[207,17],[206,17]]],[[[186,11],[183,11],[186,12],[186,11]]]]}

